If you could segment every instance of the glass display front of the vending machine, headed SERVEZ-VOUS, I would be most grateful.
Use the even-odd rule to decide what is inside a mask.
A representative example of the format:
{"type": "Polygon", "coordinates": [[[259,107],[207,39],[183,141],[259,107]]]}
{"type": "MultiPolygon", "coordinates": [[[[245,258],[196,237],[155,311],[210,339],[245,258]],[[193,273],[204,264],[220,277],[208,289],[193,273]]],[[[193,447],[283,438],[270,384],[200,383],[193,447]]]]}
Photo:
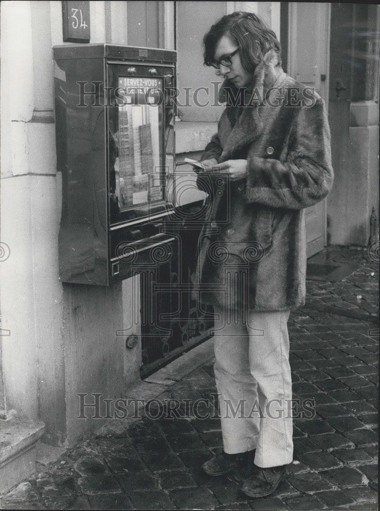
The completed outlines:
{"type": "Polygon", "coordinates": [[[149,71],[108,65],[110,224],[165,208],[164,78],[149,71]]]}

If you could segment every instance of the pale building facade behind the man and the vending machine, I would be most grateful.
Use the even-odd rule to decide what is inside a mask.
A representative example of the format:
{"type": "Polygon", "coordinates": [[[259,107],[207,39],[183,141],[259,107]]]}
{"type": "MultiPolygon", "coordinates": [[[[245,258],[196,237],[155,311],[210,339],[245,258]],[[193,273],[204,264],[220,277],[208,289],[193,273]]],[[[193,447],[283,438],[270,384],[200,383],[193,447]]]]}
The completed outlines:
{"type": "MultiPolygon", "coordinates": [[[[199,158],[223,109],[205,106],[202,87],[217,87],[220,78],[202,65],[203,35],[225,13],[259,13],[280,38],[284,70],[315,87],[328,105],[335,184],[327,200],[307,211],[309,255],[327,243],[367,245],[372,211],[378,212],[379,6],[89,4],[90,43],[178,52],[179,160],[199,158]],[[198,91],[196,101],[187,101],[186,89],[198,91]]],[[[41,435],[66,447],[101,425],[78,419],[79,394],[125,396],[140,379],[140,281],[89,287],[58,280],[62,176],[52,47],[63,44],[61,2],[2,2],[1,24],[0,421],[9,427],[20,421],[19,436],[29,440],[15,440],[0,470],[18,463],[24,476],[33,469],[31,446],[41,435]],[[139,342],[126,349],[125,335],[117,332],[135,334],[139,342]],[[27,463],[22,456],[29,456],[27,463]]],[[[201,197],[194,185],[182,200],[201,197]]]]}

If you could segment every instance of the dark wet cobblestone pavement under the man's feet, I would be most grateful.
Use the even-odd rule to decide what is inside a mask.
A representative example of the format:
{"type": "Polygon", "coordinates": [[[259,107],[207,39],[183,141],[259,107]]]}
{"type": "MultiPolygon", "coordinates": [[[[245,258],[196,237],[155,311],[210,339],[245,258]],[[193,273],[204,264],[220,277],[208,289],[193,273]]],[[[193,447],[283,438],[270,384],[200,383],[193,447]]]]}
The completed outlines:
{"type": "MultiPolygon", "coordinates": [[[[250,499],[225,476],[201,472],[222,445],[218,419],[145,416],[41,466],[3,507],[377,509],[377,264],[365,250],[330,247],[325,255],[354,271],[341,282],[308,281],[307,306],[290,316],[294,398],[315,400],[316,414],[294,419],[292,473],[275,494],[250,499]]],[[[160,398],[213,399],[214,392],[212,360],[205,360],[160,398]]],[[[205,410],[213,411],[198,411],[205,410]]]]}

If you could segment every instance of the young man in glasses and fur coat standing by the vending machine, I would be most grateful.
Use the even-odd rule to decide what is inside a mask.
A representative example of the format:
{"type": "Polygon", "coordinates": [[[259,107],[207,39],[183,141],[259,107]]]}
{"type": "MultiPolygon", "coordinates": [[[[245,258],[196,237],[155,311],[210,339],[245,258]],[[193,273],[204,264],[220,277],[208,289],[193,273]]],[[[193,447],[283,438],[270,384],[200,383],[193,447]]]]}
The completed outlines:
{"type": "Polygon", "coordinates": [[[227,106],[197,176],[200,189],[213,184],[193,296],[215,310],[223,437],[223,452],[203,468],[264,497],[293,459],[287,320],[305,304],[303,209],[333,184],[330,130],[323,100],[283,72],[280,43],[256,14],[223,16],[204,45],[227,106]]]}

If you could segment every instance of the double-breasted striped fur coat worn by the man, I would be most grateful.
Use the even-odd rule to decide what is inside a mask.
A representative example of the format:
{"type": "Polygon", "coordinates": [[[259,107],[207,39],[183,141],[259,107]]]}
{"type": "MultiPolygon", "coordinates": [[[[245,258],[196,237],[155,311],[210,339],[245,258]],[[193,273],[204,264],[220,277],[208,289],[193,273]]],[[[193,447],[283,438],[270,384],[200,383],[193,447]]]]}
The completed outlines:
{"type": "Polygon", "coordinates": [[[287,76],[273,50],[256,67],[249,97],[250,106],[234,106],[230,95],[201,158],[246,159],[247,176],[197,175],[197,187],[209,197],[192,297],[232,309],[283,311],[305,304],[303,209],[332,188],[330,129],[323,100],[287,76]]]}

